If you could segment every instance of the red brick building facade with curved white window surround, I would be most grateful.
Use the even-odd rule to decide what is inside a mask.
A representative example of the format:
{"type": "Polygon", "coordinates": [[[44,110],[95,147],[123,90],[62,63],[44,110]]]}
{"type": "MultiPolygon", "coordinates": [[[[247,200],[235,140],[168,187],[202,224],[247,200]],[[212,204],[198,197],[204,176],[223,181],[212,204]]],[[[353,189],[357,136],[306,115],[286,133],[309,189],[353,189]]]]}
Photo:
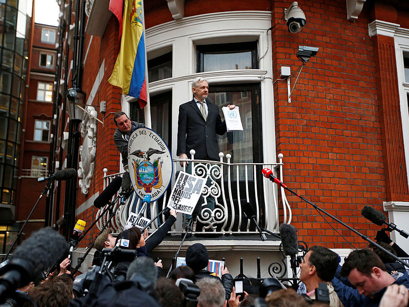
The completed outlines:
{"type": "MultiPolygon", "coordinates": [[[[103,168],[115,173],[121,167],[112,139],[113,113],[122,109],[131,116],[141,114],[134,111],[134,99],[123,98],[120,89],[107,82],[119,50],[119,24],[98,3],[94,1],[87,12],[81,88],[87,104],[99,111],[105,101],[106,111],[98,114],[104,125],[97,125],[89,192],[77,194],[77,217],[85,217],[87,223],[97,210],[92,201],[103,189],[103,168]]],[[[170,107],[160,109],[174,158],[178,106],[191,99],[189,82],[206,76],[210,92],[215,91],[212,99],[232,91],[254,95],[252,112],[243,124],[252,127],[252,162],[276,162],[282,153],[287,186],[364,235],[374,237],[379,229],[360,215],[364,205],[388,211],[390,221],[405,229],[399,223],[409,214],[409,5],[299,1],[307,21],[299,33],[290,33],[285,25],[289,5],[263,0],[144,4],[148,69],[154,70],[152,63],[169,63],[161,62],[163,56],[171,59],[170,76],[150,81],[149,95],[151,108],[162,107],[156,99],[160,95],[170,97],[170,107]],[[296,56],[299,46],[319,51],[303,64],[296,56]],[[205,55],[232,50],[251,50],[256,60],[250,66],[222,70],[201,62],[205,55]],[[280,69],[290,67],[291,90],[301,66],[289,102],[280,69]]],[[[149,105],[142,113],[149,118],[149,105]]],[[[151,117],[152,126],[160,121],[151,117]]],[[[331,225],[327,224],[296,196],[287,197],[300,240],[333,249],[349,249],[350,243],[365,246],[359,236],[329,217],[325,219],[331,225]]],[[[96,231],[90,232],[88,242],[96,231]]],[[[405,245],[398,236],[392,237],[405,245]]]]}

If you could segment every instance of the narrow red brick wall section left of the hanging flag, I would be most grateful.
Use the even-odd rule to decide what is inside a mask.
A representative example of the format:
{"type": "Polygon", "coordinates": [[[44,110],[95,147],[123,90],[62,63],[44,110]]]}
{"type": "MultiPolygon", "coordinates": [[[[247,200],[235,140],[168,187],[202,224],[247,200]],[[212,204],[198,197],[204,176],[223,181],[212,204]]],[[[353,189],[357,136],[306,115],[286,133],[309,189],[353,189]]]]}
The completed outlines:
{"type": "MultiPolygon", "coordinates": [[[[84,63],[84,75],[82,80],[82,89],[86,93],[88,99],[89,92],[92,90],[96,80],[98,71],[104,62],[104,76],[99,85],[99,89],[92,102],[98,111],[98,119],[104,122],[104,125],[98,122],[97,124],[97,155],[95,159],[95,170],[92,183],[87,195],[83,195],[80,191],[77,197],[77,206],[83,204],[90,196],[97,192],[102,192],[104,176],[103,168],[108,168],[108,173],[116,173],[119,171],[119,152],[113,142],[113,133],[115,132],[115,124],[113,123],[113,113],[121,110],[121,89],[112,86],[108,83],[108,78],[111,75],[113,66],[115,65],[119,50],[118,40],[119,25],[115,16],[112,16],[108,21],[106,31],[103,37],[94,36],[90,44],[87,60],[84,63]],[[99,113],[99,104],[101,101],[106,101],[105,114],[99,113]]],[[[85,35],[84,50],[89,45],[89,35],[85,35]]],[[[85,56],[85,52],[84,52],[85,56]]],[[[82,143],[82,140],[81,140],[82,143]]],[[[93,223],[98,209],[92,206],[85,212],[82,212],[77,218],[86,221],[87,227],[93,223]]],[[[88,233],[86,238],[81,242],[81,246],[87,246],[91,238],[95,238],[98,232],[97,227],[88,233]]]]}

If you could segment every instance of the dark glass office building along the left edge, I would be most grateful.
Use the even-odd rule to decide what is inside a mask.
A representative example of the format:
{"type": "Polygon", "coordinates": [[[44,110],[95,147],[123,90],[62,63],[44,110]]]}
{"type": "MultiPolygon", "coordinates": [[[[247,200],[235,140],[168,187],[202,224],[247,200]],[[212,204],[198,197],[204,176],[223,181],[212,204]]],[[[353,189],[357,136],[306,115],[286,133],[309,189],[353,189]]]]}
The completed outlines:
{"type": "Polygon", "coordinates": [[[0,249],[14,223],[32,11],[32,0],[0,0],[0,249]]]}

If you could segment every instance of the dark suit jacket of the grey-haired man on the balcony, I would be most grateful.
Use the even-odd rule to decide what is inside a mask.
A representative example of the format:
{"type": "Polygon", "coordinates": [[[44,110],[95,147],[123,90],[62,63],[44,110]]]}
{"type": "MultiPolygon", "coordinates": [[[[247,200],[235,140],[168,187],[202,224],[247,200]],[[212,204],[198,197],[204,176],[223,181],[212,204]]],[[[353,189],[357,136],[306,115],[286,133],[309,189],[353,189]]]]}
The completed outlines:
{"type": "Polygon", "coordinates": [[[186,153],[191,158],[190,149],[196,150],[195,159],[209,157],[219,160],[217,136],[226,133],[226,124],[221,120],[219,107],[206,99],[208,105],[207,120],[203,118],[193,100],[179,106],[177,124],[176,155],[186,153]]]}

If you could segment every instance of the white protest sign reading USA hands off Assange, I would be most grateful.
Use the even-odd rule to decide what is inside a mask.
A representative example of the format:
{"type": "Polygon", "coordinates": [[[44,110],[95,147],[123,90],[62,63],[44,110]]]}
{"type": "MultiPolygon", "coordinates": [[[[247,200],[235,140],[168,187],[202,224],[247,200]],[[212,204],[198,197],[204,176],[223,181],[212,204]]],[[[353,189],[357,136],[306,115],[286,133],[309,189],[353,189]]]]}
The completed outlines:
{"type": "Polygon", "coordinates": [[[205,187],[207,178],[196,177],[180,171],[170,195],[168,208],[176,212],[192,214],[205,187]]]}

